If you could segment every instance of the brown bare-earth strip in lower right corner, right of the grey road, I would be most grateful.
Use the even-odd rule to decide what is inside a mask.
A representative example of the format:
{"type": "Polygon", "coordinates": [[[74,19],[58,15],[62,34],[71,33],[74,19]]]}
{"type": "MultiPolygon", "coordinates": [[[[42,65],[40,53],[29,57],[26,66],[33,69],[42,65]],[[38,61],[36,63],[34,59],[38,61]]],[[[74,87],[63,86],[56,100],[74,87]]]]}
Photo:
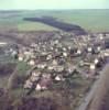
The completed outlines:
{"type": "Polygon", "coordinates": [[[109,110],[109,64],[101,72],[98,86],[87,110],[109,110]]]}

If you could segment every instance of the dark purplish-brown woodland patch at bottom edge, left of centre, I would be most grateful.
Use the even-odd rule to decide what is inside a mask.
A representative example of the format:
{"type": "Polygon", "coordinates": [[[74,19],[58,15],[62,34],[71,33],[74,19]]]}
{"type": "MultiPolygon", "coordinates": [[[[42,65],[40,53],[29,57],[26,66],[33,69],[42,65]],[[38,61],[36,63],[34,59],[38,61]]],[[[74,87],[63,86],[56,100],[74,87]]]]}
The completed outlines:
{"type": "Polygon", "coordinates": [[[57,105],[50,98],[24,98],[19,110],[57,110],[57,105]]]}

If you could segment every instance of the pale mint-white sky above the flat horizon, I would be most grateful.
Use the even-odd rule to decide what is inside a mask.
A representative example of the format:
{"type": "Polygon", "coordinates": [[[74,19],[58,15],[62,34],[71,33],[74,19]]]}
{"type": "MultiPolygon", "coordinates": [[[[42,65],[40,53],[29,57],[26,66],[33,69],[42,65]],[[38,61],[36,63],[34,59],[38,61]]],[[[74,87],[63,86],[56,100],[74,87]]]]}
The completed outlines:
{"type": "Polygon", "coordinates": [[[0,0],[0,10],[109,9],[109,0],[0,0]]]}

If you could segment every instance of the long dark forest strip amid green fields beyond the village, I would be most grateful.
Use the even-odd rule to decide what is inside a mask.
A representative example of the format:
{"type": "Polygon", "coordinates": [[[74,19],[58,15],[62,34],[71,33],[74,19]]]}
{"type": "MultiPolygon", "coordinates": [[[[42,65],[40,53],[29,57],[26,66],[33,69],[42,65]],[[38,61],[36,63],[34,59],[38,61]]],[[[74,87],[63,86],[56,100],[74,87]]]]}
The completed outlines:
{"type": "Polygon", "coordinates": [[[54,18],[50,18],[50,16],[24,18],[23,20],[33,21],[33,22],[42,22],[44,24],[61,29],[66,32],[74,32],[77,35],[86,34],[85,30],[81,29],[79,25],[61,22],[61,21],[57,21],[54,18]]]}

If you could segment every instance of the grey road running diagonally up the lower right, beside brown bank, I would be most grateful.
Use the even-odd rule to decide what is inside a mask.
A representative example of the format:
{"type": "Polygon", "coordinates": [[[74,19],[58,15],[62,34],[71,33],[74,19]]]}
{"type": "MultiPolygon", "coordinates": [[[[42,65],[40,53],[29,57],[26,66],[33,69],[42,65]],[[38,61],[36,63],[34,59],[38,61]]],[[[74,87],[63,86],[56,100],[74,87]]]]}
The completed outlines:
{"type": "Polygon", "coordinates": [[[101,100],[101,97],[99,97],[99,96],[103,96],[103,94],[105,94],[105,90],[103,90],[105,89],[103,80],[106,80],[105,73],[109,72],[107,69],[109,69],[109,64],[107,64],[106,67],[103,68],[103,70],[100,72],[99,79],[97,79],[94,82],[94,86],[90,88],[90,91],[86,95],[84,102],[77,108],[77,110],[100,110],[97,108],[98,108],[98,105],[100,103],[99,100],[101,100]],[[98,95],[98,97],[96,98],[97,95],[98,95]],[[94,101],[94,99],[95,99],[95,101],[94,101]],[[92,106],[90,109],[87,108],[89,106],[90,101],[91,101],[91,106],[96,105],[97,107],[92,106]]]}

